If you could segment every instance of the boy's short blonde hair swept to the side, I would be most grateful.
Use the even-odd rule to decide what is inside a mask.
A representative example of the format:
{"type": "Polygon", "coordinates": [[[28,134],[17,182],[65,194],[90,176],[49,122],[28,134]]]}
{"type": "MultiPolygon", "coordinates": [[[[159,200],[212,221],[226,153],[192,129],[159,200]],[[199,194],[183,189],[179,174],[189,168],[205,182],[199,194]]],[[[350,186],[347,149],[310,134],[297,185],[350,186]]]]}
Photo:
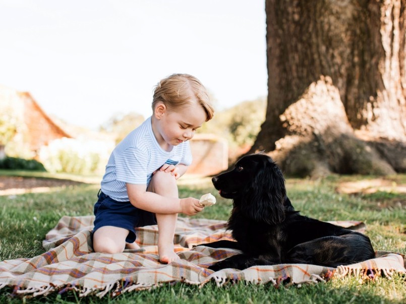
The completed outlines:
{"type": "Polygon", "coordinates": [[[162,79],[154,89],[152,110],[159,101],[169,110],[174,110],[190,103],[191,97],[196,97],[206,111],[206,121],[213,118],[214,109],[206,88],[196,77],[188,74],[172,74],[162,79]]]}

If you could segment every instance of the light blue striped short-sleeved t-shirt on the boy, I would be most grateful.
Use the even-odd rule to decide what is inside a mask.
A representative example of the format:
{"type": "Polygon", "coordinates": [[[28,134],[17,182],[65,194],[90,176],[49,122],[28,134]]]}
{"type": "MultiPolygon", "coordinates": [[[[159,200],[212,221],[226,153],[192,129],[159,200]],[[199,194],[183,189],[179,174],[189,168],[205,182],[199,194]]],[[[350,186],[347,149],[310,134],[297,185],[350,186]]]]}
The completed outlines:
{"type": "Polygon", "coordinates": [[[101,181],[101,191],[113,200],[127,202],[126,184],[147,187],[152,172],[164,163],[190,165],[190,145],[186,141],[169,152],[163,150],[152,132],[149,117],[114,148],[101,181]]]}

